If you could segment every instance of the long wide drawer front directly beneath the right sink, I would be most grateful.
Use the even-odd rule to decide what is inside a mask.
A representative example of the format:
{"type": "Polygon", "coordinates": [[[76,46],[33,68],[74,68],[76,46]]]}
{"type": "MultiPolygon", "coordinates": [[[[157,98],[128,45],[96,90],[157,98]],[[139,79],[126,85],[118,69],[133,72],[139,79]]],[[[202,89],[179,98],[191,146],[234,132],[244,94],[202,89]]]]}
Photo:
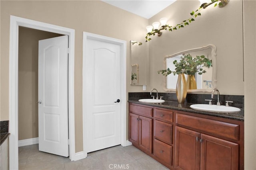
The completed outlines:
{"type": "Polygon", "coordinates": [[[239,140],[239,125],[176,113],[176,124],[239,140]]]}

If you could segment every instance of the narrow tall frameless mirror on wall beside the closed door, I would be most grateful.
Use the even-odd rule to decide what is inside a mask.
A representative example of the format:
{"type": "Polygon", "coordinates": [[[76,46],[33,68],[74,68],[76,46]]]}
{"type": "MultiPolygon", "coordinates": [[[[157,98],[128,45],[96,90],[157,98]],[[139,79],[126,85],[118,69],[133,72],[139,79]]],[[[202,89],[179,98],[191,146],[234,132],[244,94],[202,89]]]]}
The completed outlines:
{"type": "Polygon", "coordinates": [[[147,48],[145,44],[131,40],[131,85],[147,84],[147,48]]]}

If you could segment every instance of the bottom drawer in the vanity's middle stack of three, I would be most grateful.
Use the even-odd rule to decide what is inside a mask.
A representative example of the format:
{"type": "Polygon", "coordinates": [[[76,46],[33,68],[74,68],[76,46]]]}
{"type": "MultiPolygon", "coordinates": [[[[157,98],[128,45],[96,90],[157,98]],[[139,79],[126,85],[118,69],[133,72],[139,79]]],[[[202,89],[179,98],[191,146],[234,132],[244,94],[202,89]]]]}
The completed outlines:
{"type": "Polygon", "coordinates": [[[172,146],[154,139],[154,156],[172,165],[172,146]]]}

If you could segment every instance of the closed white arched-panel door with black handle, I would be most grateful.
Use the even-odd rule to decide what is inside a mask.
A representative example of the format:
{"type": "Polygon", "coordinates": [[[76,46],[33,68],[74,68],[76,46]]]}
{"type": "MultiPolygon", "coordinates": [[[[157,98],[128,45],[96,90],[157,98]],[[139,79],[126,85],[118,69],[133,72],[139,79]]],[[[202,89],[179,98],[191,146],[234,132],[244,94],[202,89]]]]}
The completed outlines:
{"type": "Polygon", "coordinates": [[[86,150],[121,144],[121,46],[87,39],[86,150]]]}

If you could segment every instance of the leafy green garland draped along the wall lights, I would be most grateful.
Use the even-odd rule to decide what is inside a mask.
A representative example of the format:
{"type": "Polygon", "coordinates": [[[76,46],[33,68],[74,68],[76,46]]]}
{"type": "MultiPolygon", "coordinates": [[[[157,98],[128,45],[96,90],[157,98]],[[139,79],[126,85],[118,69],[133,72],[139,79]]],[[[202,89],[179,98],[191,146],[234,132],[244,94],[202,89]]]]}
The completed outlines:
{"type": "Polygon", "coordinates": [[[150,33],[147,33],[147,35],[145,37],[146,42],[151,40],[151,38],[150,38],[151,35],[156,35],[156,34],[160,35],[162,30],[168,29],[169,31],[175,31],[177,29],[184,28],[186,25],[189,25],[192,21],[195,21],[196,17],[201,16],[200,11],[202,9],[205,9],[206,7],[208,7],[214,3],[215,3],[214,7],[216,7],[216,6],[223,7],[228,2],[229,2],[229,0],[211,0],[210,3],[203,3],[197,10],[190,12],[191,17],[188,18],[187,20],[183,20],[181,23],[179,23],[175,26],[163,25],[160,29],[155,29],[155,30],[152,29],[152,31],[150,33]]]}

